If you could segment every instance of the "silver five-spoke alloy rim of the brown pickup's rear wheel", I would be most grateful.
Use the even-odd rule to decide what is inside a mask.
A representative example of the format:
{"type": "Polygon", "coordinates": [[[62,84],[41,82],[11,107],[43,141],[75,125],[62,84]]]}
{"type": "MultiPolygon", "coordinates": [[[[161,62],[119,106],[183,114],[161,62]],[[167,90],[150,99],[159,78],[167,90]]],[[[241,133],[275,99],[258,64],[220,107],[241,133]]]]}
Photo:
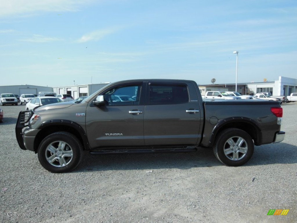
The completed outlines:
{"type": "Polygon", "coordinates": [[[240,136],[229,138],[224,145],[225,156],[230,160],[241,160],[247,154],[247,142],[240,136]]]}

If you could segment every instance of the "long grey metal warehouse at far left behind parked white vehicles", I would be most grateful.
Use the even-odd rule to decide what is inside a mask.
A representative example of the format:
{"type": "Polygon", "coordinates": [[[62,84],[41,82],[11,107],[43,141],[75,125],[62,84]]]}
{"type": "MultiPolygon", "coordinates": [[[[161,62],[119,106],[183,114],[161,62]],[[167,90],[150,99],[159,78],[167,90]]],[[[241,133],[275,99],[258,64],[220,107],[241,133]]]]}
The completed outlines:
{"type": "Polygon", "coordinates": [[[38,92],[53,92],[52,87],[43,87],[36,85],[10,85],[10,86],[0,86],[0,94],[2,93],[12,93],[12,94],[34,94],[38,95],[38,92]]]}

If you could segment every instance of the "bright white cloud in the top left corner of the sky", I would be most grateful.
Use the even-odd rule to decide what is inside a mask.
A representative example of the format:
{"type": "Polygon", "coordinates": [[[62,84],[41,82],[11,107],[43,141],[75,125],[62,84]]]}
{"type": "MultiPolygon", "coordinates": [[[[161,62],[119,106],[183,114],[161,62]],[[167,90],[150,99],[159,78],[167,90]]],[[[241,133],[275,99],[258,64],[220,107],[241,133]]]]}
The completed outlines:
{"type": "Polygon", "coordinates": [[[77,11],[81,5],[91,1],[93,0],[3,0],[1,1],[0,17],[39,11],[77,11]]]}

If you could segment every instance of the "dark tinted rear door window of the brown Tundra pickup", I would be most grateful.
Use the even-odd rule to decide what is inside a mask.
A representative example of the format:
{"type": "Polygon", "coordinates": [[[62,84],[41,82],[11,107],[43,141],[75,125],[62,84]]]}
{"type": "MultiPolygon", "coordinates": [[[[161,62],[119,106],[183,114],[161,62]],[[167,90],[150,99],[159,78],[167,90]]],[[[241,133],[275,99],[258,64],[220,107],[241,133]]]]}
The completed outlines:
{"type": "Polygon", "coordinates": [[[181,104],[189,102],[188,88],[185,84],[150,84],[149,104],[181,104]]]}

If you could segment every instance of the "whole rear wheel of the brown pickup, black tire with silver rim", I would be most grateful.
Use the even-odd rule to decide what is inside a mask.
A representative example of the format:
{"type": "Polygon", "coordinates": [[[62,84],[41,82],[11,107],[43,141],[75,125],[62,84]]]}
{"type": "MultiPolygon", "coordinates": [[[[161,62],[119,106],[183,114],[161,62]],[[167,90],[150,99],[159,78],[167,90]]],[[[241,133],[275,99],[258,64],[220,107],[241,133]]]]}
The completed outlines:
{"type": "Polygon", "coordinates": [[[218,134],[214,155],[227,166],[241,166],[252,157],[254,142],[252,137],[238,128],[228,128],[218,134]]]}

